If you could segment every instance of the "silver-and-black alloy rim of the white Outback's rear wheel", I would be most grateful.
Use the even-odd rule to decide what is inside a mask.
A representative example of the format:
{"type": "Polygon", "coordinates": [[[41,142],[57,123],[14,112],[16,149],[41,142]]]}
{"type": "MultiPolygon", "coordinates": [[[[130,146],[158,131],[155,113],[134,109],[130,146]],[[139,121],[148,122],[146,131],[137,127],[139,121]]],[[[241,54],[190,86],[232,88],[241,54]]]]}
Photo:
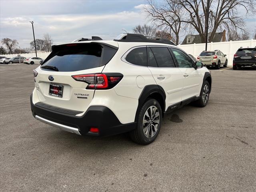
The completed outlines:
{"type": "Polygon", "coordinates": [[[152,138],[157,130],[160,123],[160,114],[156,106],[150,106],[143,117],[143,133],[147,138],[152,138]]]}

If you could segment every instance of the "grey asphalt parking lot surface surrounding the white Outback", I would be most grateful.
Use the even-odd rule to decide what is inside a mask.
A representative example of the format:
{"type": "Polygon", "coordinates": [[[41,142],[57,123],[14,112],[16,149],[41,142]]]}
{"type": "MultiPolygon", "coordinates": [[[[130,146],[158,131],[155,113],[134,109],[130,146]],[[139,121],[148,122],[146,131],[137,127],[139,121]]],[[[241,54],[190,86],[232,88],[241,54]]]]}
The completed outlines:
{"type": "Polygon", "coordinates": [[[256,70],[211,70],[208,105],[168,114],[156,141],[140,146],[35,120],[36,67],[0,65],[2,192],[256,191],[256,70]]]}

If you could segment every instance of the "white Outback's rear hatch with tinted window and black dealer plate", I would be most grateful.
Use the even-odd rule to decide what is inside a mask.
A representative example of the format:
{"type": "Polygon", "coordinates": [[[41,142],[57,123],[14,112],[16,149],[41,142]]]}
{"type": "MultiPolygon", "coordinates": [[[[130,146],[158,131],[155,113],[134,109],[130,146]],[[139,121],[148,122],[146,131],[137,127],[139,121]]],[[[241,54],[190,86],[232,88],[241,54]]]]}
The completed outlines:
{"type": "Polygon", "coordinates": [[[86,82],[72,76],[101,73],[116,53],[117,46],[117,42],[112,42],[112,45],[86,42],[53,46],[35,78],[40,102],[84,112],[95,90],[86,89],[86,82]]]}

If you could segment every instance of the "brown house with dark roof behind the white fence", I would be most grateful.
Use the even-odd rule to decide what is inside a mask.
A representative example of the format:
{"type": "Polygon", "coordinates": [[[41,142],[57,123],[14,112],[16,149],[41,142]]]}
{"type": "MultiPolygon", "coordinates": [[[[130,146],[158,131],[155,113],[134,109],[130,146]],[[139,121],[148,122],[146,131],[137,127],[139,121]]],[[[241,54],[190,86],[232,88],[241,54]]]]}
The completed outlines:
{"type": "MultiPolygon", "coordinates": [[[[211,33],[208,33],[208,42],[209,42],[209,38],[211,36],[211,33]]],[[[224,30],[223,32],[220,33],[216,33],[212,42],[224,42],[226,41],[226,30],[224,30]]],[[[199,35],[187,35],[183,42],[182,45],[186,45],[186,44],[194,44],[194,43],[205,43],[205,42],[201,42],[201,38],[199,35]]]]}

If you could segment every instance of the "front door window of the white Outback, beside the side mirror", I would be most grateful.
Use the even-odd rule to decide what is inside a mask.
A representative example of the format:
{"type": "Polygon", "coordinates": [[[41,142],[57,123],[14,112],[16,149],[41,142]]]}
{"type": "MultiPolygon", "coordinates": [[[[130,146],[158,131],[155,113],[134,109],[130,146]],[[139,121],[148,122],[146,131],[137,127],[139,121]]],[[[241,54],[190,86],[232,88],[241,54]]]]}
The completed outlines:
{"type": "Polygon", "coordinates": [[[192,68],[194,67],[194,62],[191,60],[191,58],[186,55],[181,50],[171,48],[172,52],[174,53],[174,56],[178,62],[179,67],[182,68],[192,68]]]}

